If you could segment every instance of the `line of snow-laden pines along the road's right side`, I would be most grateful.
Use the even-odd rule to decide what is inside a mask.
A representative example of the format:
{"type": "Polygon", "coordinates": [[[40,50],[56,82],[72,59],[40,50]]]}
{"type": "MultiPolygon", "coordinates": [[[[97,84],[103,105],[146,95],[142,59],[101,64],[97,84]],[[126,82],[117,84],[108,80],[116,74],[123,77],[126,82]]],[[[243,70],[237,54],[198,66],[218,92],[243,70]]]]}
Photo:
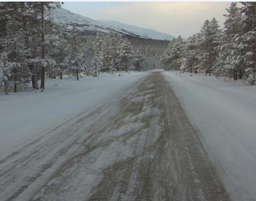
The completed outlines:
{"type": "Polygon", "coordinates": [[[223,29],[215,18],[204,22],[199,33],[170,42],[161,61],[165,69],[245,78],[254,84],[256,73],[256,2],[232,2],[223,29]]]}

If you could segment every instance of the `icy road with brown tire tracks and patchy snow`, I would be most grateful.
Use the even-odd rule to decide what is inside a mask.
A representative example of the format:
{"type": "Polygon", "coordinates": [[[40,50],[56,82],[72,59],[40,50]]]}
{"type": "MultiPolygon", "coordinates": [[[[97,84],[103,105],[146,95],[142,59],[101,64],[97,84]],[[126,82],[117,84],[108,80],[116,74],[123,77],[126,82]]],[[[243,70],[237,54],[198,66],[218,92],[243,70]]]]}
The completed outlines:
{"type": "Polygon", "coordinates": [[[1,200],[230,200],[160,72],[0,161],[1,200]]]}

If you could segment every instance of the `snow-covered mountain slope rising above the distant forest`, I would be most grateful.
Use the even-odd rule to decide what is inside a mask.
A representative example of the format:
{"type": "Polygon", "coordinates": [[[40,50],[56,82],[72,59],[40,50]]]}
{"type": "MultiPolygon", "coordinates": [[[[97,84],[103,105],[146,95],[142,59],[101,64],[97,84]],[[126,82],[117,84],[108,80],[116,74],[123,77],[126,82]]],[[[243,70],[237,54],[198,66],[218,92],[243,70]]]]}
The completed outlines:
{"type": "Polygon", "coordinates": [[[50,14],[55,22],[69,23],[71,26],[76,25],[81,31],[100,31],[103,33],[114,31],[129,36],[151,38],[154,40],[172,40],[174,38],[169,34],[164,34],[137,26],[126,25],[116,21],[96,21],[82,15],[74,14],[63,8],[56,8],[52,10],[50,14]]]}

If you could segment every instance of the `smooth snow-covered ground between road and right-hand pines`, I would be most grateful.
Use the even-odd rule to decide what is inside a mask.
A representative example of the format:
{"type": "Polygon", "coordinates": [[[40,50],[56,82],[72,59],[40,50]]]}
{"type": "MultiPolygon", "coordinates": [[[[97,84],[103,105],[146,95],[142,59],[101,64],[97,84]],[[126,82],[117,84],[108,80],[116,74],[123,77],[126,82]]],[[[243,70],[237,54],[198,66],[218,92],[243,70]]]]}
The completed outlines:
{"type": "Polygon", "coordinates": [[[256,87],[163,72],[233,200],[256,200],[256,87]]]}

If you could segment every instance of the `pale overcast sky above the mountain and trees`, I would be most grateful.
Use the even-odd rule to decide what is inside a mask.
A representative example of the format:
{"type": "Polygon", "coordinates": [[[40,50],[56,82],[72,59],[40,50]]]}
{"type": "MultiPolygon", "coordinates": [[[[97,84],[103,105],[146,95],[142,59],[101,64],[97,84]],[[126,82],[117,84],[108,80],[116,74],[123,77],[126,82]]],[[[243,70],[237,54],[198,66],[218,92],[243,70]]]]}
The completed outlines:
{"type": "Polygon", "coordinates": [[[62,7],[92,19],[107,19],[188,37],[206,19],[223,27],[230,2],[65,2],[62,7]]]}

